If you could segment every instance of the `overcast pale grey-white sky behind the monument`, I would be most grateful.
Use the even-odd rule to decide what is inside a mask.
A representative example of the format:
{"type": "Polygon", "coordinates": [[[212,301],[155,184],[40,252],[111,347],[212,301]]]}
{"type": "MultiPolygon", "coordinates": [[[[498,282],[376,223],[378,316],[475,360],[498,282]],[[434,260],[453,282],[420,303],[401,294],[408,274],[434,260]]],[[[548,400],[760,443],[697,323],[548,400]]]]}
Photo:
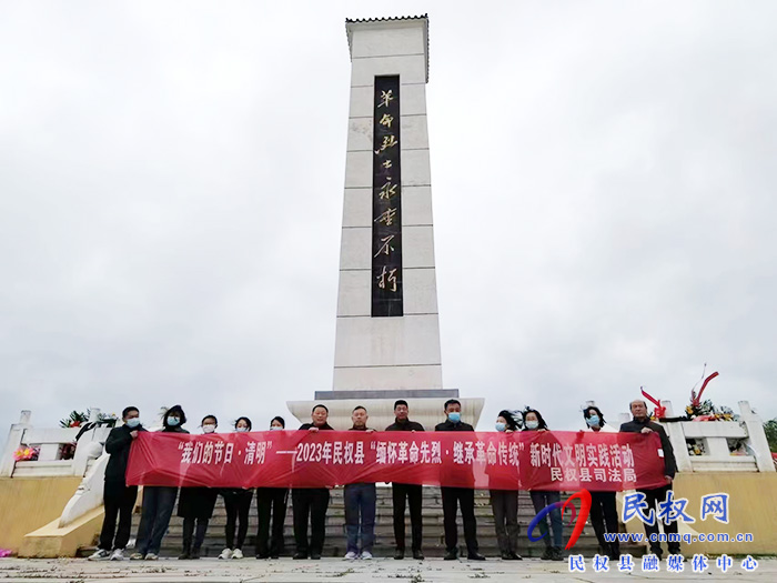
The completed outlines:
{"type": "Polygon", "coordinates": [[[2,0],[0,441],[332,389],[344,19],[424,12],[443,378],[480,429],[680,410],[705,362],[777,416],[776,3],[2,0]]]}

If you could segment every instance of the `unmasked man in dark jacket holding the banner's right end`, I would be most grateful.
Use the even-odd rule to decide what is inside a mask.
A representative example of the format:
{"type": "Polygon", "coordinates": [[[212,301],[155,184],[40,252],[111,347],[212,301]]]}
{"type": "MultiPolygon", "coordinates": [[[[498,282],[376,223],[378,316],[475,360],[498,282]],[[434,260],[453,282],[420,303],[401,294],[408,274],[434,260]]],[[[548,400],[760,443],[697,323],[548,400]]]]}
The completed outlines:
{"type": "MultiPolygon", "coordinates": [[[[672,490],[672,480],[675,478],[675,473],[677,473],[675,450],[672,448],[672,442],[669,441],[669,436],[666,434],[666,431],[664,431],[664,428],[662,428],[658,423],[654,423],[648,418],[647,403],[645,401],[643,401],[642,399],[637,399],[635,401],[632,401],[629,406],[634,419],[632,419],[632,421],[623,423],[620,425],[620,431],[624,433],[645,434],[656,432],[660,438],[660,446],[664,453],[664,479],[666,480],[666,485],[652,489],[637,489],[637,492],[642,492],[643,494],[645,494],[645,502],[647,502],[647,509],[645,509],[645,514],[649,514],[649,512],[653,510],[655,511],[655,514],[657,516],[658,509],[656,507],[656,505],[659,502],[664,502],[666,500],[667,493],[672,490]]],[[[677,534],[677,521],[673,521],[668,524],[664,522],[664,532],[666,534],[677,534]]],[[[652,534],[658,534],[658,520],[656,520],[653,523],[653,525],[645,524],[645,534],[649,541],[650,551],[660,561],[663,554],[660,542],[650,541],[652,534]]],[[[667,542],[667,546],[669,549],[669,554],[679,554],[679,542],[667,542]]]]}

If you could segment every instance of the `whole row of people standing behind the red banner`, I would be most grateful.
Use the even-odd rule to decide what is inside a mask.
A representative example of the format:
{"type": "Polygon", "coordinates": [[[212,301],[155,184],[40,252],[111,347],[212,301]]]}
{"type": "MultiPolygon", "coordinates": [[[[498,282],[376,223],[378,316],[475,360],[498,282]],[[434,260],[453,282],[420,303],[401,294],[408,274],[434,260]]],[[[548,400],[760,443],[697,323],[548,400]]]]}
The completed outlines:
{"type": "MultiPolygon", "coordinates": [[[[650,421],[645,401],[636,400],[630,403],[633,420],[623,423],[620,432],[650,433],[656,432],[660,436],[664,454],[666,484],[658,489],[639,490],[645,493],[650,509],[666,499],[672,489],[672,480],[677,470],[672,443],[664,429],[650,421]]],[[[474,428],[462,421],[462,405],[455,399],[450,399],[444,404],[445,421],[437,424],[435,431],[470,431],[474,428]]],[[[385,431],[425,431],[421,423],[410,420],[410,410],[405,400],[394,403],[394,423],[385,428],[385,431]]],[[[311,422],[304,423],[301,431],[332,431],[327,423],[329,409],[317,404],[311,413],[311,422]]],[[[606,423],[602,411],[597,406],[587,406],[583,411],[583,418],[587,431],[616,432],[606,423]]],[[[105,517],[100,534],[98,550],[90,560],[122,560],[124,549],[130,539],[132,512],[138,497],[138,486],[127,485],[124,474],[129,459],[132,440],[138,433],[145,431],[140,422],[140,413],[137,408],[128,406],[122,412],[123,425],[111,430],[105,442],[105,451],[110,454],[105,470],[104,509],[105,517]],[[117,527],[118,519],[118,527],[117,527]]],[[[352,428],[350,431],[373,432],[367,425],[369,414],[364,406],[356,406],[351,415],[352,428]]],[[[183,425],[186,415],[180,405],[169,409],[162,418],[162,431],[173,433],[188,433],[183,425]]],[[[202,419],[202,432],[213,433],[219,425],[214,415],[205,415],[202,419]]],[[[270,423],[271,430],[284,430],[283,418],[275,416],[270,423]]],[[[514,431],[548,431],[539,411],[527,408],[519,420],[509,411],[501,411],[497,415],[495,429],[503,432],[514,431]],[[523,425],[523,429],[521,428],[523,425]]],[[[234,423],[234,431],[251,431],[251,420],[241,416],[234,423]]],[[[442,486],[443,524],[445,532],[445,560],[458,557],[458,527],[456,524],[457,512],[461,511],[464,539],[467,550],[467,559],[471,561],[484,561],[478,552],[475,520],[475,491],[472,487],[442,486]]],[[[494,513],[496,536],[500,555],[503,560],[521,560],[517,553],[518,545],[518,491],[517,490],[491,490],[491,505],[494,513]]],[[[546,506],[561,501],[561,494],[556,491],[529,491],[534,510],[538,513],[546,506]]],[[[610,559],[619,557],[617,541],[608,542],[605,533],[618,532],[618,516],[615,505],[614,492],[591,492],[591,523],[594,527],[599,544],[599,553],[607,554],[610,559]]],[[[174,486],[145,486],[143,491],[143,504],[140,526],[135,543],[135,552],[132,560],[152,561],[159,557],[162,539],[168,531],[175,500],[178,499],[178,515],[183,519],[183,549],[179,559],[199,559],[208,524],[213,515],[213,509],[218,496],[224,499],[226,510],[225,540],[226,544],[219,559],[243,559],[243,544],[248,534],[251,502],[254,495],[252,489],[211,489],[211,487],[181,487],[174,486]]],[[[375,504],[376,490],[374,483],[352,483],[344,487],[346,553],[345,559],[370,560],[375,542],[375,504]]],[[[258,487],[256,507],[259,514],[259,530],[256,533],[256,559],[278,559],[283,553],[283,525],[286,515],[289,490],[285,487],[258,487]],[[272,532],[270,529],[272,521],[272,532]]],[[[392,484],[393,523],[395,551],[394,559],[405,557],[405,509],[410,509],[411,519],[411,552],[413,559],[423,560],[422,552],[422,506],[423,486],[418,484],[392,484]]],[[[330,502],[327,487],[292,489],[292,511],[294,524],[294,540],[296,550],[294,559],[321,559],[326,525],[326,511],[330,502]],[[310,539],[307,526],[310,523],[310,539]]],[[[539,523],[545,551],[544,560],[562,561],[563,522],[561,511],[556,507],[539,523]],[[548,525],[549,519],[549,525],[548,525]],[[551,535],[552,533],[552,535],[551,535]]],[[[667,534],[677,533],[677,522],[664,523],[667,534]]],[[[645,524],[645,532],[650,540],[650,534],[658,533],[658,524],[645,524]]],[[[662,547],[659,542],[652,541],[650,550],[660,560],[662,547]]],[[[679,543],[668,543],[669,553],[679,553],[679,543]]]]}

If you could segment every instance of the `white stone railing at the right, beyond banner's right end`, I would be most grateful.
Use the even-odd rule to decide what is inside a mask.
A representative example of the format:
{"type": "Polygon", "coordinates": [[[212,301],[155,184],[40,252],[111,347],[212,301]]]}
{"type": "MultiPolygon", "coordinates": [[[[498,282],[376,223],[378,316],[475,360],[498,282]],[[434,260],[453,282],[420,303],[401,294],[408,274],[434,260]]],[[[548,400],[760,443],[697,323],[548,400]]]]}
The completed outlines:
{"type": "MultiPolygon", "coordinates": [[[[670,401],[662,401],[675,416],[670,401]]],[[[622,413],[620,422],[630,415],[622,413]]],[[[672,440],[680,472],[774,472],[764,422],[747,401],[739,401],[738,421],[662,422],[672,440]],[[692,450],[694,453],[689,451],[692,450]]]]}

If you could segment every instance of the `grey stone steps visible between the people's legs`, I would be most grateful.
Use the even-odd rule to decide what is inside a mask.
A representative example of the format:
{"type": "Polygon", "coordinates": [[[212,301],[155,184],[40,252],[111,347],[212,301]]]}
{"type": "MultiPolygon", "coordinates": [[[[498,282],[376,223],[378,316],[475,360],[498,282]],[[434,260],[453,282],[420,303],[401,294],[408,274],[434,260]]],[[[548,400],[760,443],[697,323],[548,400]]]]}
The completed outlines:
{"type": "MultiPolygon", "coordinates": [[[[562,496],[564,500],[564,496],[562,496]]],[[[373,554],[375,556],[393,556],[394,554],[394,529],[392,517],[392,495],[391,486],[377,486],[377,515],[375,524],[375,546],[373,554]]],[[[477,519],[477,542],[481,553],[487,557],[500,555],[496,533],[494,531],[494,517],[488,502],[488,491],[477,490],[475,492],[475,516],[477,519]]],[[[532,501],[528,492],[521,492],[518,496],[518,523],[521,533],[518,535],[518,554],[524,557],[539,556],[545,546],[544,543],[532,543],[526,536],[526,527],[534,519],[535,512],[532,506],[532,501]]],[[[568,516],[567,516],[568,520],[568,516]]],[[[445,552],[444,531],[443,531],[443,505],[442,496],[438,487],[424,487],[423,499],[423,521],[424,521],[424,543],[423,552],[427,557],[441,557],[445,552]]],[[[182,519],[173,515],[170,521],[170,529],[162,542],[162,556],[178,556],[182,546],[182,519]]],[[[255,497],[251,506],[249,534],[243,546],[243,553],[246,557],[253,557],[255,554],[255,536],[256,536],[256,502],[255,497]]],[[[140,523],[140,514],[137,514],[132,525],[132,536],[138,532],[140,523]]],[[[224,511],[223,499],[219,496],[216,502],[213,519],[208,529],[208,536],[202,547],[203,557],[214,557],[224,549],[224,526],[226,524],[226,514],[224,511]]],[[[410,514],[406,512],[405,517],[405,536],[408,546],[411,544],[410,514]]],[[[462,531],[461,515],[458,517],[458,544],[463,556],[466,556],[466,547],[464,546],[464,534],[462,531]]],[[[285,552],[284,555],[291,556],[294,552],[294,536],[292,530],[292,504],[291,495],[289,496],[289,506],[286,510],[285,522],[285,552]]],[[[564,526],[564,544],[568,540],[572,527],[564,526]]],[[[622,527],[622,532],[625,532],[622,527]]],[[[93,551],[93,547],[82,549],[80,555],[87,555],[93,551]]],[[[582,553],[586,556],[593,556],[597,551],[596,536],[593,527],[587,524],[583,534],[575,544],[574,552],[582,553]]],[[[628,552],[635,556],[643,554],[640,546],[628,545],[622,547],[623,552],[628,552]]],[[[324,543],[324,556],[343,556],[345,554],[345,511],[343,507],[343,490],[342,487],[331,491],[331,500],[329,511],[326,513],[326,540],[324,543]]]]}

